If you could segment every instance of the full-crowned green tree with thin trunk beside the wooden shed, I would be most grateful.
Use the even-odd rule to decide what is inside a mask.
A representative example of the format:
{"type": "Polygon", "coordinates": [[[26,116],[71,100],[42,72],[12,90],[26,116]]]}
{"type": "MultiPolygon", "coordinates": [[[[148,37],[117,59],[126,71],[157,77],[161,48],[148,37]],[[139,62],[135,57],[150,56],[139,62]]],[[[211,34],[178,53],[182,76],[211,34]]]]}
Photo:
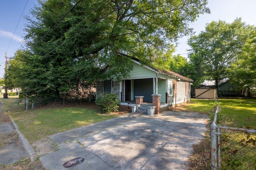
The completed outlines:
{"type": "Polygon", "coordinates": [[[218,81],[227,78],[227,70],[241,54],[252,27],[241,19],[232,23],[212,21],[206,24],[205,31],[190,37],[190,61],[197,72],[218,81]]]}

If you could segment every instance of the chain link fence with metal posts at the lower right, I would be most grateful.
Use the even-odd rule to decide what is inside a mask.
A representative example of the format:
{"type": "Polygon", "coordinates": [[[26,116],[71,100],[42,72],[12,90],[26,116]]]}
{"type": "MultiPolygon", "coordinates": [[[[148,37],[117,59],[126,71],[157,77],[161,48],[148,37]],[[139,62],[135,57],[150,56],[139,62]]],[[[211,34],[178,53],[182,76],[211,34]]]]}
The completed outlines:
{"type": "Polygon", "coordinates": [[[256,170],[256,130],[220,126],[219,113],[217,106],[210,124],[211,169],[256,170]]]}

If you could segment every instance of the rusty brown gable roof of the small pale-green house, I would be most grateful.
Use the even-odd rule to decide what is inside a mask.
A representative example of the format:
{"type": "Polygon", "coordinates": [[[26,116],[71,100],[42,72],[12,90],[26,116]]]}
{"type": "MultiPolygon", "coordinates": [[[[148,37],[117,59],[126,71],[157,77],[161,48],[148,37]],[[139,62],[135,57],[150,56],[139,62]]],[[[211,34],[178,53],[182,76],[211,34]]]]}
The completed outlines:
{"type": "MultiPolygon", "coordinates": [[[[156,72],[156,74],[162,74],[162,75],[166,75],[166,76],[169,76],[169,77],[173,77],[173,78],[176,78],[178,80],[184,80],[184,81],[188,81],[188,82],[193,82],[194,80],[190,79],[190,78],[187,78],[185,76],[182,76],[176,72],[173,72],[173,71],[170,71],[170,70],[162,70],[162,69],[157,69],[157,68],[153,68],[152,66],[147,66],[147,65],[143,65],[140,63],[140,60],[139,59],[135,59],[133,57],[130,57],[128,55],[125,55],[125,54],[122,54],[122,53],[119,53],[118,55],[122,56],[122,57],[129,57],[132,59],[132,61],[136,64],[139,64],[145,68],[148,68],[149,70],[152,70],[154,72],[156,72]]],[[[106,68],[108,67],[108,64],[106,64],[103,68],[102,68],[102,71],[103,70],[106,70],[106,68]]]]}

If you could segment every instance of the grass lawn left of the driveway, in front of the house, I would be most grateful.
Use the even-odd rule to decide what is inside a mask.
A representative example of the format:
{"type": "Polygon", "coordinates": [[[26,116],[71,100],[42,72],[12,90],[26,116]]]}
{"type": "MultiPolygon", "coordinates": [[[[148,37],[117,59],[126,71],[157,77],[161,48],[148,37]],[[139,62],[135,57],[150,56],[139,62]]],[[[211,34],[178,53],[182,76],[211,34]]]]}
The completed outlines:
{"type": "Polygon", "coordinates": [[[25,104],[14,104],[17,101],[18,98],[2,100],[2,111],[12,116],[20,132],[30,144],[44,139],[49,135],[112,119],[121,115],[98,113],[95,104],[77,105],[76,107],[72,105],[57,105],[25,111],[25,104]]]}

